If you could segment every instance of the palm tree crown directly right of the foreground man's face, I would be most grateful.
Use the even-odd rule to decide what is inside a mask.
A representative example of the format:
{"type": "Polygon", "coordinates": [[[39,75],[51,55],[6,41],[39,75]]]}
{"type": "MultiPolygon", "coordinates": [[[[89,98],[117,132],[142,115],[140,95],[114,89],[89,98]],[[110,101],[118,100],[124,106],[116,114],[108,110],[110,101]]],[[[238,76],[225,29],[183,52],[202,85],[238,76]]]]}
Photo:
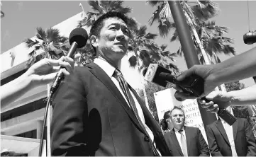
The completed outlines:
{"type": "Polygon", "coordinates": [[[150,63],[155,63],[167,69],[171,69],[175,74],[179,73],[177,66],[172,64],[177,54],[165,50],[167,45],[157,45],[154,41],[157,35],[147,33],[147,27],[145,25],[136,30],[132,30],[131,36],[129,50],[133,52],[134,55],[129,59],[130,66],[135,67],[137,65],[140,71],[148,67],[150,63]],[[139,60],[142,61],[141,65],[139,60]]]}

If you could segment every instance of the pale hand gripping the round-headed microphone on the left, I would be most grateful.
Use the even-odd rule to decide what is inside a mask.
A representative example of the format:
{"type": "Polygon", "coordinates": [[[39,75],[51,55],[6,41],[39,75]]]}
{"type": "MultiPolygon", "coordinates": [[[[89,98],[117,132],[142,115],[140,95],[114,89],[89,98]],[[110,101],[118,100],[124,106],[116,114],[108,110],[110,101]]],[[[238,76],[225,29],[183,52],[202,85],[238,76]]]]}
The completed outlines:
{"type": "Polygon", "coordinates": [[[40,86],[51,83],[57,71],[59,71],[60,66],[65,67],[65,69],[62,69],[62,72],[65,76],[68,76],[72,74],[74,69],[74,60],[70,57],[61,57],[58,60],[42,59],[33,64],[33,66],[30,66],[26,74],[32,79],[35,86],[40,86]]]}

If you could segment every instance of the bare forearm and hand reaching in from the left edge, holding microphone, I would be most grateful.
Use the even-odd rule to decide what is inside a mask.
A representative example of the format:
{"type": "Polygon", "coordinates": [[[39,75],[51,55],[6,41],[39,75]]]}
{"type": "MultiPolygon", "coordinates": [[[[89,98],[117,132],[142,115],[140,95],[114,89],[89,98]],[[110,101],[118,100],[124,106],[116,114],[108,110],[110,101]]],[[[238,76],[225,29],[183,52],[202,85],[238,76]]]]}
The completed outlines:
{"type": "Polygon", "coordinates": [[[17,79],[1,86],[1,108],[21,98],[33,88],[51,83],[60,66],[65,67],[63,74],[69,76],[74,68],[74,60],[70,57],[61,57],[58,60],[42,59],[17,79]]]}

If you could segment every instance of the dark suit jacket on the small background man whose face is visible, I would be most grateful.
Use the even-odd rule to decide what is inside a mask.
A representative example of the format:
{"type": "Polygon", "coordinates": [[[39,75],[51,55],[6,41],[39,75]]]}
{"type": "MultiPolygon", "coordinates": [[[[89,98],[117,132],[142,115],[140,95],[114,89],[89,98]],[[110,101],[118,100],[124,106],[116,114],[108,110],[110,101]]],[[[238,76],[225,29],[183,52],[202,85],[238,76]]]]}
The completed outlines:
{"type": "MultiPolygon", "coordinates": [[[[186,140],[187,140],[187,151],[189,156],[210,156],[208,145],[204,140],[204,136],[197,127],[185,127],[186,140]]],[[[177,136],[172,131],[165,133],[165,141],[169,147],[173,156],[184,156],[182,149],[179,146],[177,136]]]]}

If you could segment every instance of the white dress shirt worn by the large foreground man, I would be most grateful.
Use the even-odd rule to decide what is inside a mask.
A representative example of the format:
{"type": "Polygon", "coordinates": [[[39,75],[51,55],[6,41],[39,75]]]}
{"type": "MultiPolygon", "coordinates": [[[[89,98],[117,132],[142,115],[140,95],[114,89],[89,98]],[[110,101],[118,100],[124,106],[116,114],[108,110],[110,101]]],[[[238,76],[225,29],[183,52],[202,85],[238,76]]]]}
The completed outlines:
{"type": "MultiPolygon", "coordinates": [[[[108,62],[106,62],[105,60],[100,59],[100,58],[94,59],[94,63],[97,64],[99,67],[101,67],[101,69],[103,69],[106,72],[106,74],[109,76],[109,78],[116,85],[116,87],[118,88],[120,93],[123,95],[123,98],[126,100],[126,96],[124,95],[124,93],[123,93],[123,91],[122,91],[118,81],[116,80],[116,78],[113,77],[113,72],[115,71],[116,68],[111,66],[111,64],[109,64],[108,62]]],[[[138,100],[133,95],[133,92],[130,91],[130,94],[133,96],[133,100],[134,100],[136,108],[138,110],[138,115],[140,117],[141,122],[143,122],[143,125],[144,125],[146,131],[148,132],[148,135],[150,136],[150,139],[154,142],[154,135],[151,132],[150,128],[145,124],[145,117],[143,115],[143,110],[141,109],[140,104],[138,103],[138,100]]],[[[127,102],[127,104],[129,104],[128,100],[126,100],[126,102],[127,102]]]]}

